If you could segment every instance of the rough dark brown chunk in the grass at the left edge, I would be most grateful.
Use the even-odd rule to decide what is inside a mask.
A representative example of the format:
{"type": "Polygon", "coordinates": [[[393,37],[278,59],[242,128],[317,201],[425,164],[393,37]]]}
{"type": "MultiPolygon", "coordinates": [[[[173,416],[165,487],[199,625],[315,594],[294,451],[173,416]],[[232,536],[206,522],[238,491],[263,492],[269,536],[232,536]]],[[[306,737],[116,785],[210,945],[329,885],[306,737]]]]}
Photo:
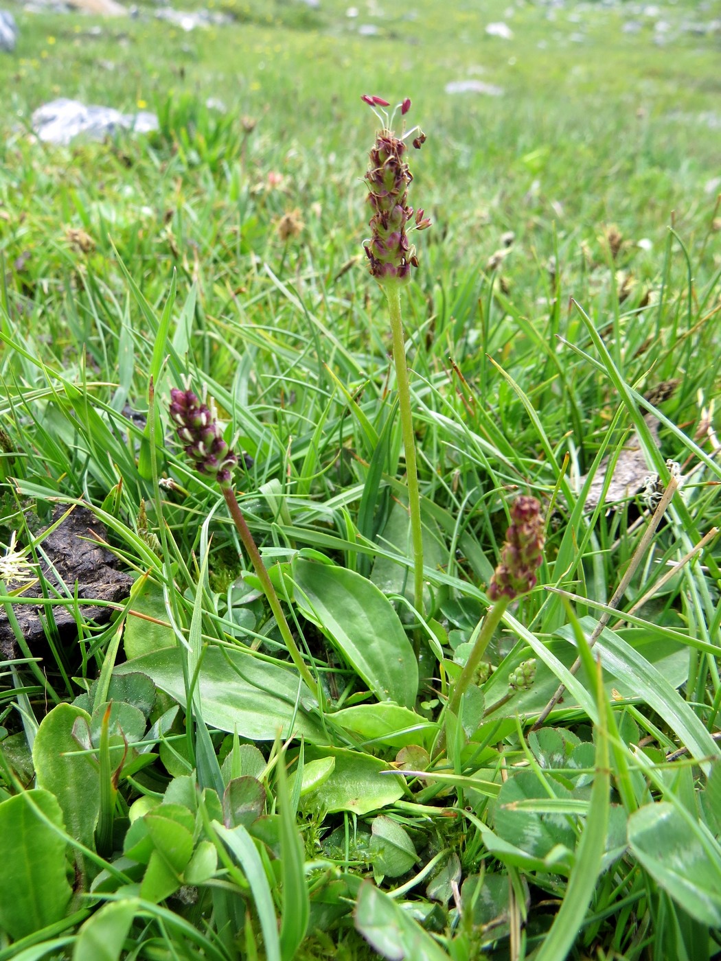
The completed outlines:
{"type": "MultiPolygon", "coordinates": [[[[65,505],[56,507],[53,523],[57,522],[66,510],[65,505]]],[[[39,536],[42,538],[41,533],[39,536]]],[[[112,608],[97,606],[92,602],[118,603],[128,597],[133,584],[133,578],[117,570],[118,561],[114,554],[98,543],[105,537],[105,526],[92,511],[87,507],[76,506],[58,528],[38,544],[38,548],[49,560],[48,563],[42,559],[40,568],[51,592],[57,591],[57,596],[61,598],[72,598],[76,595],[81,602],[85,602],[80,604],[84,620],[95,624],[107,624],[112,608]]],[[[12,590],[16,585],[10,582],[6,586],[12,590]]],[[[41,584],[32,584],[23,592],[22,597],[42,597],[41,584]]],[[[74,606],[72,601],[67,604],[53,604],[53,616],[62,640],[77,636],[74,606]]],[[[44,646],[46,642],[43,622],[47,620],[47,606],[12,604],[12,610],[30,650],[37,650],[38,645],[44,646]]],[[[1,606],[0,653],[8,658],[18,656],[12,626],[7,612],[1,606]]]]}

